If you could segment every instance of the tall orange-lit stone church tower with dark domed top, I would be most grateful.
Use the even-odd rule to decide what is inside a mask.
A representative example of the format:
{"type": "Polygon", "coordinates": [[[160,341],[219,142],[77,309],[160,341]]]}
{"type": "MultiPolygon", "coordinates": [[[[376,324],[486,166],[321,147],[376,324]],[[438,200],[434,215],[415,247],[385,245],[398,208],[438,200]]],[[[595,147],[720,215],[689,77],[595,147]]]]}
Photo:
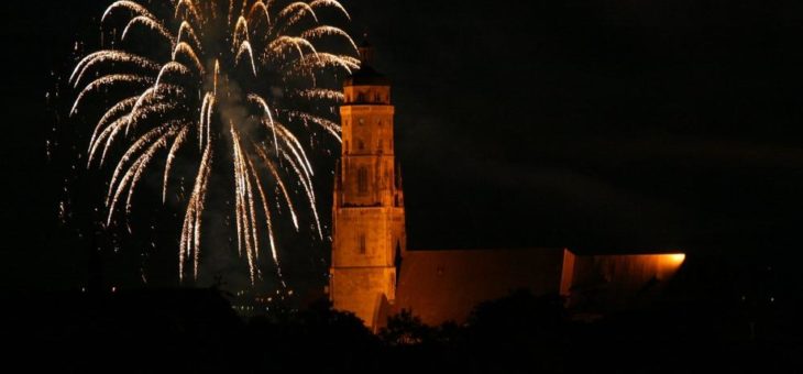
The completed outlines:
{"type": "Polygon", "coordinates": [[[396,298],[397,265],[407,249],[402,177],[394,155],[391,82],[371,67],[373,48],[360,47],[361,68],[343,87],[343,145],[336,170],[329,297],[367,327],[383,302],[396,298]]]}

